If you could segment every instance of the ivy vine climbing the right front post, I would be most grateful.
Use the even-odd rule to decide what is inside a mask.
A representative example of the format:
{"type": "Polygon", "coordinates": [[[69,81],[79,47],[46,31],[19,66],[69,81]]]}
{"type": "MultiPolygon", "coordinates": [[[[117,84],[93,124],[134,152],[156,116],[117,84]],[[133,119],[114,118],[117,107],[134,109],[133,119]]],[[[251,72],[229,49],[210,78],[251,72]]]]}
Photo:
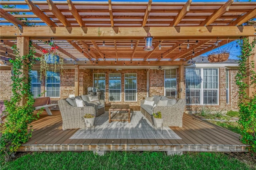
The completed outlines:
{"type": "Polygon", "coordinates": [[[240,41],[241,45],[241,55],[238,56],[238,73],[236,74],[236,85],[238,85],[239,91],[239,113],[240,117],[238,124],[240,126],[240,133],[242,135],[242,142],[244,144],[249,144],[251,147],[250,151],[256,152],[256,93],[252,93],[250,96],[246,94],[246,89],[255,88],[256,86],[256,72],[254,69],[254,62],[249,61],[248,58],[256,51],[253,51],[256,40],[252,43],[249,39],[244,37],[240,41]],[[244,80],[250,80],[250,83],[246,84],[244,80]]]}

